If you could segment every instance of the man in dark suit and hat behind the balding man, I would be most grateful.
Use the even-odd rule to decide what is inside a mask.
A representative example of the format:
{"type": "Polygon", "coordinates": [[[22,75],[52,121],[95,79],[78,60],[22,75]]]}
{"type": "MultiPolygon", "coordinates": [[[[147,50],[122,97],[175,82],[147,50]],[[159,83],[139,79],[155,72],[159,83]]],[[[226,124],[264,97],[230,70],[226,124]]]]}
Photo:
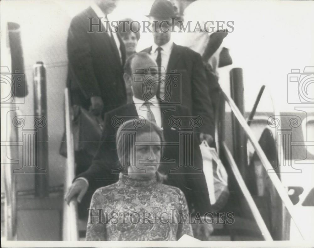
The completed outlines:
{"type": "Polygon", "coordinates": [[[166,101],[181,104],[193,115],[200,116],[204,123],[199,129],[200,141],[206,140],[211,144],[214,137],[214,112],[201,55],[171,40],[172,19],[177,17],[170,1],[156,0],[148,17],[154,30],[154,44],[143,51],[152,55],[161,70],[181,75],[179,88],[161,85],[157,95],[164,101],[163,96],[170,93],[171,97],[166,101]]]}

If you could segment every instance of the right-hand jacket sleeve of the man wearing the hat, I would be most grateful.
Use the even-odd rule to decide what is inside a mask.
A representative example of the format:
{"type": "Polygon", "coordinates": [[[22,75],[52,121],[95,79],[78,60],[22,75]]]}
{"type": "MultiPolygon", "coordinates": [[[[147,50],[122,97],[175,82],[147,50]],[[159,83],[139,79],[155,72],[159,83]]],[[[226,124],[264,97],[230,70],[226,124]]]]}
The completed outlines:
{"type": "Polygon", "coordinates": [[[192,69],[192,113],[203,119],[203,125],[198,132],[214,137],[214,110],[208,92],[203,61],[201,55],[195,53],[192,69]]]}

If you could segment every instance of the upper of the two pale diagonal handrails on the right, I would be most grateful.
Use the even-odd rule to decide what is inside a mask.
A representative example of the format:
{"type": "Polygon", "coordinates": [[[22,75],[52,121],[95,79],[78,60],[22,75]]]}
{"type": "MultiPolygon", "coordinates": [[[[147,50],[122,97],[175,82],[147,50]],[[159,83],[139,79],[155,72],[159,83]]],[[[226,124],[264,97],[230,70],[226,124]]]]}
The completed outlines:
{"type": "MultiPolygon", "coordinates": [[[[229,104],[231,111],[234,113],[236,119],[239,121],[241,127],[244,129],[246,135],[248,136],[248,139],[251,141],[254,149],[256,150],[256,153],[258,155],[258,157],[260,158],[264,168],[266,169],[266,171],[272,171],[273,170],[273,166],[270,164],[270,162],[268,161],[265,153],[263,152],[261,146],[259,145],[257,139],[255,138],[252,130],[250,129],[250,127],[248,126],[248,124],[246,123],[246,120],[244,119],[243,115],[241,114],[240,110],[237,108],[236,104],[234,103],[234,101],[229,98],[225,92],[221,89],[221,94],[224,97],[225,101],[229,104]]],[[[283,201],[284,205],[286,206],[291,219],[293,220],[293,222],[295,223],[295,226],[297,227],[300,235],[302,236],[303,240],[304,240],[304,235],[302,234],[299,225],[296,223],[297,217],[294,214],[294,209],[293,209],[293,204],[286,192],[286,190],[284,189],[281,181],[279,180],[278,176],[276,173],[268,173],[268,176],[270,178],[270,180],[272,181],[274,187],[276,188],[279,197],[281,198],[281,200],[283,201]]]]}

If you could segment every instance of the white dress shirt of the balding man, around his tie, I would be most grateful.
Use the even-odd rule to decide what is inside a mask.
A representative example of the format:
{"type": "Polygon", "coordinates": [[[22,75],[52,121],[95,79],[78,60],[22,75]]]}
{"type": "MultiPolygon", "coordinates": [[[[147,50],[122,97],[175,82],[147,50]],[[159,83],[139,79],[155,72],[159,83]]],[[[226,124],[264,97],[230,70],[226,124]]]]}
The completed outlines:
{"type": "MultiPolygon", "coordinates": [[[[147,107],[143,106],[143,104],[145,103],[144,100],[138,99],[134,96],[132,97],[132,99],[138,116],[140,118],[151,120],[150,112],[148,111],[147,107]]],[[[152,99],[156,99],[156,97],[153,97],[152,99]]],[[[149,100],[149,102],[153,104],[152,106],[150,106],[150,109],[154,114],[157,125],[161,128],[161,112],[159,103],[151,100],[149,100]]]]}

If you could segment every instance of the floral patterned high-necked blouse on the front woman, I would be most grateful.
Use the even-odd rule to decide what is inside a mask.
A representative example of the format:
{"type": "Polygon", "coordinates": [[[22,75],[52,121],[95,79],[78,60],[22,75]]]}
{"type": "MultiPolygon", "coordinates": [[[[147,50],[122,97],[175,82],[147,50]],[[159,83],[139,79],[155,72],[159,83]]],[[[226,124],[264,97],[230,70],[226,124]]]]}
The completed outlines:
{"type": "Polygon", "coordinates": [[[91,200],[86,240],[178,240],[193,236],[187,201],[177,188],[120,173],[91,200]]]}

